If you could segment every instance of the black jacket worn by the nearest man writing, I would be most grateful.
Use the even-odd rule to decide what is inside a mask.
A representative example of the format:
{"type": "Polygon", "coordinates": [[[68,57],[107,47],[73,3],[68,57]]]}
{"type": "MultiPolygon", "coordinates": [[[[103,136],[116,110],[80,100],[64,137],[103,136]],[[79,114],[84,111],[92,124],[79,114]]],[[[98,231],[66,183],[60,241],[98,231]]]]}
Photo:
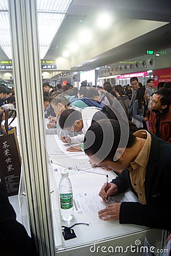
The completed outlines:
{"type": "MultiPolygon", "coordinates": [[[[171,230],[171,145],[151,134],[152,143],[145,173],[145,199],[147,205],[124,202],[120,207],[120,224],[145,225],[171,230]]],[[[116,179],[118,192],[127,188],[135,193],[130,174],[124,170],[116,179]]]]}

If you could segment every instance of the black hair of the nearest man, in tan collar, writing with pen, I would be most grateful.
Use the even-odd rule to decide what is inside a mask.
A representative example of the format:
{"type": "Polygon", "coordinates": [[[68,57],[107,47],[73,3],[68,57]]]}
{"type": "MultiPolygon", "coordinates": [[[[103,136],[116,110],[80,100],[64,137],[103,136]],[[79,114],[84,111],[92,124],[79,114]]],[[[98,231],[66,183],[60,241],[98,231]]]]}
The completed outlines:
{"type": "Polygon", "coordinates": [[[95,155],[102,160],[113,161],[118,146],[131,148],[136,143],[132,133],[124,133],[126,126],[122,122],[112,119],[102,119],[94,122],[86,132],[84,151],[88,156],[95,155]],[[122,140],[121,138],[122,129],[122,140]]]}

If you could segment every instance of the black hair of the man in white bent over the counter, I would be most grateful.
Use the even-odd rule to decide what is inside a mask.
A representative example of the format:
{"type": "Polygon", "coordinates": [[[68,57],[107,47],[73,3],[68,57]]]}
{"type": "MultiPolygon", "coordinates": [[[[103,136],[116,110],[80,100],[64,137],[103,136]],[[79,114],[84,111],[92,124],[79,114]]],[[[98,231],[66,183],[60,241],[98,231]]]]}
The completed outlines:
{"type": "Polygon", "coordinates": [[[59,119],[59,125],[61,129],[66,129],[74,126],[76,120],[81,120],[82,114],[80,111],[75,109],[65,109],[59,119]]]}

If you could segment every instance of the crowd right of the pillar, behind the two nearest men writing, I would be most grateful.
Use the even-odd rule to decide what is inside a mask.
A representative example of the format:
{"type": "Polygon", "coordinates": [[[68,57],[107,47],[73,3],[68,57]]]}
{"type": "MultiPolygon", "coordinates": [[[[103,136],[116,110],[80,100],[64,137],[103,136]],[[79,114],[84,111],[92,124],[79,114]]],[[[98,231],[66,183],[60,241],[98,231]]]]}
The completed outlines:
{"type": "MultiPolygon", "coordinates": [[[[137,77],[132,77],[130,84],[112,86],[110,82],[106,81],[103,87],[94,88],[87,86],[87,81],[83,81],[79,90],[78,88],[73,89],[70,84],[66,84],[67,90],[62,89],[64,86],[60,84],[56,86],[56,90],[52,86],[44,84],[45,117],[49,117],[47,133],[53,133],[54,131],[51,129],[59,127],[56,120],[60,118],[61,112],[56,115],[54,105],[58,105],[61,109],[65,105],[65,108],[78,111],[87,107],[103,109],[104,106],[110,106],[120,115],[126,114],[128,121],[134,123],[137,129],[150,131],[170,143],[171,82],[160,82],[156,92],[153,88],[153,79],[148,79],[147,86],[143,86],[137,77]],[[45,93],[48,95],[45,96],[45,93]],[[61,93],[62,100],[59,96],[61,93]],[[54,104],[53,98],[59,98],[60,102],[54,104]],[[66,102],[68,103],[66,104],[66,102]],[[48,129],[50,130],[48,131],[48,129]]],[[[60,131],[60,127],[58,130],[60,131]]]]}

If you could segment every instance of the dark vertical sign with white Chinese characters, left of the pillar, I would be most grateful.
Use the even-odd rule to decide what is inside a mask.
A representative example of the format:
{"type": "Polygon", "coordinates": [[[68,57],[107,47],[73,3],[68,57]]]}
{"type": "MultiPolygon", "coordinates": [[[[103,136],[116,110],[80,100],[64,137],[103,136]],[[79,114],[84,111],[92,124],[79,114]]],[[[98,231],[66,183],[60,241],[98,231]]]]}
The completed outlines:
{"type": "Polygon", "coordinates": [[[20,154],[15,134],[0,135],[0,177],[8,196],[18,194],[20,181],[20,154]]]}

